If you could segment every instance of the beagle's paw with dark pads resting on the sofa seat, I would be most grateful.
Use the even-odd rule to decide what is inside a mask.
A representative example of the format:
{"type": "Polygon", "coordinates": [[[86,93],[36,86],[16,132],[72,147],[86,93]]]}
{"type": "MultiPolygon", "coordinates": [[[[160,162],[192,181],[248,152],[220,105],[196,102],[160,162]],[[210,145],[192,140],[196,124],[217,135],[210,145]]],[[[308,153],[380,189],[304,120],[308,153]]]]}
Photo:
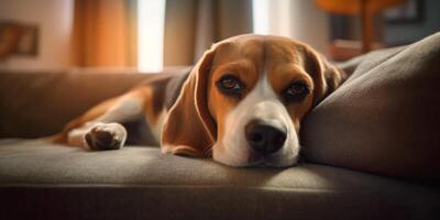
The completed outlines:
{"type": "Polygon", "coordinates": [[[99,123],[86,133],[85,140],[92,151],[119,150],[125,143],[127,130],[119,123],[99,123]]]}

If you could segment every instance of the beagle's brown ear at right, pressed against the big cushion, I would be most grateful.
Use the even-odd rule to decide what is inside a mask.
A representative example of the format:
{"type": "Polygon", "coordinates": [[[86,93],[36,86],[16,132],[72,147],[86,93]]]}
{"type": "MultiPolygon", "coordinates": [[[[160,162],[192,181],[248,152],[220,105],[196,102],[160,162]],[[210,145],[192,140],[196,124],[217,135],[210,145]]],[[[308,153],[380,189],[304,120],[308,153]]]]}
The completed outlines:
{"type": "Polygon", "coordinates": [[[314,105],[317,105],[346,79],[346,74],[307,45],[305,45],[305,56],[306,72],[314,78],[314,105]]]}

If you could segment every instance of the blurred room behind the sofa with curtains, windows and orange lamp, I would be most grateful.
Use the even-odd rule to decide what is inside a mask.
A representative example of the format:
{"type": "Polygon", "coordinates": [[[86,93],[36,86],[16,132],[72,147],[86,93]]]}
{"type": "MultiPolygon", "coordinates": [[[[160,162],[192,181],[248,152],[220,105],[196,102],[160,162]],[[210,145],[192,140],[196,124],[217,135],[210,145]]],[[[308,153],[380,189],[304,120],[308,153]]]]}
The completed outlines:
{"type": "Polygon", "coordinates": [[[243,33],[341,62],[439,30],[438,0],[0,0],[0,70],[160,72],[243,33]]]}

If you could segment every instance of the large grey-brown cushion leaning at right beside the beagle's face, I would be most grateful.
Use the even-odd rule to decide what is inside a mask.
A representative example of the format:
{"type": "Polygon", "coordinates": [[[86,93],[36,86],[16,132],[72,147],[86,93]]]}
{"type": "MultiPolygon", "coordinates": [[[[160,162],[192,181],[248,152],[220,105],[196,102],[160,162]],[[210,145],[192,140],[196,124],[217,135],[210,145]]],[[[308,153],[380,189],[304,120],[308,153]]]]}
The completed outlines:
{"type": "Polygon", "coordinates": [[[440,179],[440,33],[355,62],[348,81],[305,120],[307,160],[440,179]]]}

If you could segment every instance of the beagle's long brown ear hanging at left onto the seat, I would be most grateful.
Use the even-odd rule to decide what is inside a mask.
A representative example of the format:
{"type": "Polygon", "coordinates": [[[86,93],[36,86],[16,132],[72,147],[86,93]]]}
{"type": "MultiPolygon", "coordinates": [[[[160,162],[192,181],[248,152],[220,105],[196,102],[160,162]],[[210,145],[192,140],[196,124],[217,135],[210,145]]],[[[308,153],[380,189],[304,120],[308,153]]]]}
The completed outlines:
{"type": "Polygon", "coordinates": [[[217,132],[207,105],[207,82],[215,50],[212,46],[199,59],[169,109],[162,130],[164,153],[205,156],[215,143],[217,132]]]}

